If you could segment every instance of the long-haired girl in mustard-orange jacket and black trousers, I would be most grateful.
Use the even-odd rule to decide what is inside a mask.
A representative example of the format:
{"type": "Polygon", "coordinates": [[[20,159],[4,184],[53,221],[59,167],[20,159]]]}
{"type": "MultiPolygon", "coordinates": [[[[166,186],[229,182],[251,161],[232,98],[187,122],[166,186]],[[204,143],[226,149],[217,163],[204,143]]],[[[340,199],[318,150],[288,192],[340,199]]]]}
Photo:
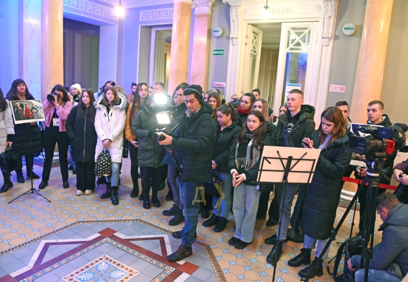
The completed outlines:
{"type": "Polygon", "coordinates": [[[129,154],[131,156],[131,177],[133,182],[133,189],[131,192],[131,197],[136,198],[139,196],[139,173],[138,173],[138,162],[137,155],[139,151],[139,143],[137,137],[133,135],[131,126],[135,120],[136,114],[140,111],[141,105],[144,99],[149,97],[149,90],[147,84],[141,82],[137,85],[135,91],[135,97],[132,104],[129,105],[126,113],[126,125],[124,127],[124,133],[126,139],[129,141],[129,154]]]}

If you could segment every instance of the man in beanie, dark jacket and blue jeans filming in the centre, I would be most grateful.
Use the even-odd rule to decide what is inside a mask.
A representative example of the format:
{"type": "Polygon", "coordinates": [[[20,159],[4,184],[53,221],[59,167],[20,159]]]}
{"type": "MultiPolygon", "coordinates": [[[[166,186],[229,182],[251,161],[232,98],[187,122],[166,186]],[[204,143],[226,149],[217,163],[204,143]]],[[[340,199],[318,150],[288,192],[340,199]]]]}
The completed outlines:
{"type": "Polygon", "coordinates": [[[183,201],[185,225],[183,231],[174,232],[173,237],[179,237],[181,232],[182,245],[167,259],[178,262],[193,254],[191,245],[196,241],[199,201],[203,183],[213,179],[212,149],[215,140],[215,124],[211,117],[213,112],[209,104],[205,104],[199,85],[190,85],[184,90],[187,106],[185,114],[177,117],[180,126],[174,132],[175,136],[163,134],[160,145],[173,147],[177,159],[183,165],[183,175],[180,181],[180,197],[183,201]]]}

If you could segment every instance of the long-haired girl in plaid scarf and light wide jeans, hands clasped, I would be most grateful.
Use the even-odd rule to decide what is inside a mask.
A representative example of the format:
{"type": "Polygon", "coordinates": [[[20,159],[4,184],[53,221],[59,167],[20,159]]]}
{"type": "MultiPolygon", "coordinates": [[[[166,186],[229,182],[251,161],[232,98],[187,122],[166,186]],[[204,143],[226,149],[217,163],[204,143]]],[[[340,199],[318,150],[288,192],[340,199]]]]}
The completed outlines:
{"type": "Polygon", "coordinates": [[[257,182],[258,170],[264,146],[272,144],[266,134],[267,128],[268,122],[262,112],[250,111],[230,150],[228,170],[231,171],[234,186],[233,211],[236,227],[234,237],[228,244],[237,249],[246,248],[252,242],[261,195],[257,182]]]}

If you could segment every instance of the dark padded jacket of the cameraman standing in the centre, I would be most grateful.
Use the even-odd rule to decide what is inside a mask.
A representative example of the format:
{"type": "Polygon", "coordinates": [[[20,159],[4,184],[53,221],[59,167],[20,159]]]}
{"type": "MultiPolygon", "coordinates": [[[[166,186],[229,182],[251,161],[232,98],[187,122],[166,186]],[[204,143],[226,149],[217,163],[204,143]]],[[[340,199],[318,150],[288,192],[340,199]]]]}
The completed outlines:
{"type": "MultiPolygon", "coordinates": [[[[212,157],[215,125],[211,117],[213,108],[204,103],[191,117],[177,117],[180,126],[175,130],[172,147],[177,161],[183,165],[183,182],[206,182],[213,179],[212,157]]],[[[140,150],[140,149],[139,149],[140,150]]]]}

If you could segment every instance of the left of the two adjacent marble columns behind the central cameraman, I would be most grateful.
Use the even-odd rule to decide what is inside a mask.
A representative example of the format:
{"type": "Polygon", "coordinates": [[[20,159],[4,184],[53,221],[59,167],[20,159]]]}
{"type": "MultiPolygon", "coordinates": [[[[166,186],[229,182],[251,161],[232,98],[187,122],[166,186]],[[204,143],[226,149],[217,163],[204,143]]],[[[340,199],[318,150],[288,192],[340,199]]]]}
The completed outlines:
{"type": "Polygon", "coordinates": [[[190,45],[191,0],[174,0],[171,33],[169,93],[187,82],[190,45]]]}

